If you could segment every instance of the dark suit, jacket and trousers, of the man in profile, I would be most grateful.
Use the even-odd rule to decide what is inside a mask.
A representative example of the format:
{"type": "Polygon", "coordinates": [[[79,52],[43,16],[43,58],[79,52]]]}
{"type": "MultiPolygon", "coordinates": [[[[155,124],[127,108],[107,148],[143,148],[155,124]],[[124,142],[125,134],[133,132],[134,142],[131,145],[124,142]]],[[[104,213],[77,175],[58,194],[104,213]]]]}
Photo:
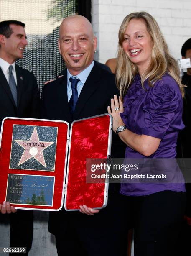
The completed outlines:
{"type": "MultiPolygon", "coordinates": [[[[0,128],[3,118],[38,118],[40,97],[38,85],[33,73],[15,65],[17,76],[17,107],[13,100],[9,84],[0,68],[0,128]]],[[[1,216],[2,218],[2,216],[1,216]]],[[[10,246],[27,247],[30,250],[33,241],[33,211],[18,210],[10,214],[10,246]],[[23,232],[24,228],[24,232],[23,232]]],[[[28,253],[27,253],[28,255],[28,253]]]]}

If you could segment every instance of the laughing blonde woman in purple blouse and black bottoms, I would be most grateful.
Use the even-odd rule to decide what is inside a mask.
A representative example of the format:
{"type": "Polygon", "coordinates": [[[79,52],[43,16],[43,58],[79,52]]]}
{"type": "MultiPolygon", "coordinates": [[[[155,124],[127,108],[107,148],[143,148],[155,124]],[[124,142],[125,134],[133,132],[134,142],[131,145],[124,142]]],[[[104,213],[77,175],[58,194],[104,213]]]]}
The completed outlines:
{"type": "MultiPolygon", "coordinates": [[[[176,156],[182,122],[183,85],[176,60],[155,19],[131,13],[119,31],[116,81],[120,90],[111,100],[113,130],[127,144],[125,157],[176,156]]],[[[178,182],[178,181],[177,181],[178,182]]],[[[185,207],[183,183],[121,185],[127,220],[134,221],[135,256],[176,255],[185,207]]]]}

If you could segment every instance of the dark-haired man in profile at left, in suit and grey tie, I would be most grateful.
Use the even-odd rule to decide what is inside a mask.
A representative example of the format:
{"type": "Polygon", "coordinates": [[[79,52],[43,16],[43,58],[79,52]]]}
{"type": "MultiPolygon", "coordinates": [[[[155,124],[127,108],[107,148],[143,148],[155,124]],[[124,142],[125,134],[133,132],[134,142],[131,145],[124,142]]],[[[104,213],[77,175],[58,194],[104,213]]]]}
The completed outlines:
{"type": "MultiPolygon", "coordinates": [[[[0,127],[5,117],[38,118],[39,93],[33,73],[15,64],[23,59],[27,46],[25,24],[17,20],[0,22],[0,127]]],[[[2,202],[0,202],[2,203],[2,202]]],[[[9,202],[0,204],[1,213],[16,212],[9,202]]],[[[10,214],[10,247],[26,247],[33,239],[33,212],[10,214]]]]}

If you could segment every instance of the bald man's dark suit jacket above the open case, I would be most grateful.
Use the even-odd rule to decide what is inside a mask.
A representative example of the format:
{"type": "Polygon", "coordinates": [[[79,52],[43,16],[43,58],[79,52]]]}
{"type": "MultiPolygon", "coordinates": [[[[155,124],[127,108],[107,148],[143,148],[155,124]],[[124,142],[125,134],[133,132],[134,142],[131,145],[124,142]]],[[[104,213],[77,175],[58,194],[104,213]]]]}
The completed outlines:
{"type": "Polygon", "coordinates": [[[65,120],[70,125],[73,120],[107,113],[107,106],[114,94],[119,94],[115,76],[99,68],[95,63],[76,103],[74,118],[71,119],[67,95],[67,71],[63,77],[46,84],[41,95],[43,118],[65,120]]]}

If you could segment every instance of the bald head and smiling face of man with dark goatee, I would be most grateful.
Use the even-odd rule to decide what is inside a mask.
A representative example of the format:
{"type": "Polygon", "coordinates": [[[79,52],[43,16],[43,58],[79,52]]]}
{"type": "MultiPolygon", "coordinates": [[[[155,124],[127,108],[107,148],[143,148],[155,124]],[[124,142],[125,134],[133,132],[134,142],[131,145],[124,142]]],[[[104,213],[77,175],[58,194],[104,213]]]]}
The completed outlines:
{"type": "Polygon", "coordinates": [[[71,74],[79,74],[92,63],[97,39],[86,18],[79,15],[66,18],[60,26],[58,43],[59,51],[71,74]]]}

